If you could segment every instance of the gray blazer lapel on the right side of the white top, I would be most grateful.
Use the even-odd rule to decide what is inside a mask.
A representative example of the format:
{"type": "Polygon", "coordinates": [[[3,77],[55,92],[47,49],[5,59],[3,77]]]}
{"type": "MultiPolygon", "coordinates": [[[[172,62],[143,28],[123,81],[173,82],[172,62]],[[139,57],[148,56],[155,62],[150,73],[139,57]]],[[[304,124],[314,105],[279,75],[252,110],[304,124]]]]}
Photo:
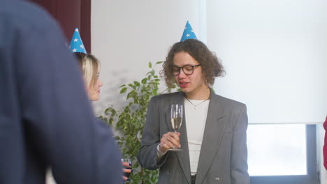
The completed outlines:
{"type": "Polygon", "coordinates": [[[223,120],[223,109],[220,106],[217,95],[212,92],[207,120],[205,122],[201,153],[198,160],[196,183],[202,183],[205,174],[208,172],[212,160],[216,155],[226,126],[226,122],[223,120]]]}

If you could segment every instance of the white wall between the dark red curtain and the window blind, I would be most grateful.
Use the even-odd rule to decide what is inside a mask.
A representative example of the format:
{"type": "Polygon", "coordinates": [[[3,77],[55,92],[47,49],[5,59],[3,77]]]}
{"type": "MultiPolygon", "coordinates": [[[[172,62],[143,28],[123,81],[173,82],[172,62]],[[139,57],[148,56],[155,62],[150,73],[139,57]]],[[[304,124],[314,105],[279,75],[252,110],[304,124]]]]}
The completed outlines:
{"type": "Polygon", "coordinates": [[[143,79],[149,61],[166,59],[187,20],[198,30],[199,5],[198,0],[92,1],[92,54],[101,61],[104,83],[96,114],[124,103],[119,86],[143,79]]]}

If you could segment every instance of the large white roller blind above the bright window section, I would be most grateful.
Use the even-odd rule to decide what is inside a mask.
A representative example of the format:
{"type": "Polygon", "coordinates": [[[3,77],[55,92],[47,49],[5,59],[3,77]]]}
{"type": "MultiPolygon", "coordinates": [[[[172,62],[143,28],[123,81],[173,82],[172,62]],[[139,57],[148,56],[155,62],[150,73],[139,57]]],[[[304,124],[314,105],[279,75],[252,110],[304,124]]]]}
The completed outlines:
{"type": "Polygon", "coordinates": [[[327,1],[208,0],[208,47],[227,75],[215,89],[245,102],[249,123],[322,123],[327,1]]]}

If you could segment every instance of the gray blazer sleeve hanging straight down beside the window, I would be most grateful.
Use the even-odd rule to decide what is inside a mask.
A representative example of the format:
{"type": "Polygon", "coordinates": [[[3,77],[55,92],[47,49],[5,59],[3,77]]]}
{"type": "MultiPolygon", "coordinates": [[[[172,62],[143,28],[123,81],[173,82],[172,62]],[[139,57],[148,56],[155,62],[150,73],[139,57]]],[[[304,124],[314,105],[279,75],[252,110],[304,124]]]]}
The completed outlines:
{"type": "Polygon", "coordinates": [[[233,129],[231,183],[249,184],[247,172],[247,107],[241,106],[233,129]]]}

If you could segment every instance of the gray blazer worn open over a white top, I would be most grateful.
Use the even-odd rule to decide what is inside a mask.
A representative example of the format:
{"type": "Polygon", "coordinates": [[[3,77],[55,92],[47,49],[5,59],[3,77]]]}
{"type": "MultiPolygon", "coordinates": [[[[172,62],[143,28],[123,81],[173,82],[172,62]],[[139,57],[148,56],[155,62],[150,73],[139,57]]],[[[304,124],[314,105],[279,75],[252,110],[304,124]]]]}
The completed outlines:
{"type": "MultiPolygon", "coordinates": [[[[185,116],[179,130],[183,151],[168,151],[157,162],[157,146],[162,135],[173,132],[170,124],[172,104],[184,105],[184,93],[157,95],[150,100],[138,160],[146,169],[160,168],[159,183],[191,184],[185,116]]],[[[212,91],[196,184],[249,184],[246,131],[246,106],[212,91]]]]}

